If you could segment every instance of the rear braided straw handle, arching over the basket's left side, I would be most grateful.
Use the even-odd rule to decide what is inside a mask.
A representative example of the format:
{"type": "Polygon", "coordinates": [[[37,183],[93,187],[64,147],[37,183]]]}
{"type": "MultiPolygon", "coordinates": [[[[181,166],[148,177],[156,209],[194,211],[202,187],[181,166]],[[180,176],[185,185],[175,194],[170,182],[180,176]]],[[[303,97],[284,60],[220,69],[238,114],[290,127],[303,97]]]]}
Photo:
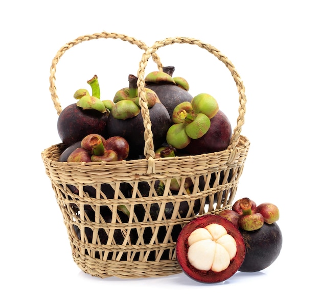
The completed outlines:
{"type": "MultiPolygon", "coordinates": [[[[62,55],[66,52],[66,50],[70,49],[71,47],[83,42],[83,41],[88,41],[88,40],[94,40],[94,39],[107,39],[107,38],[112,38],[112,39],[121,39],[123,41],[127,41],[131,44],[135,44],[137,45],[139,48],[143,49],[143,50],[147,50],[148,46],[141,40],[137,40],[133,37],[129,37],[123,34],[117,34],[117,33],[107,33],[107,32],[102,32],[102,33],[97,33],[97,34],[93,34],[93,35],[84,35],[84,36],[80,36],[75,40],[70,41],[69,43],[66,43],[65,45],[63,45],[57,52],[56,56],[54,57],[54,59],[52,60],[52,64],[50,67],[50,93],[51,93],[51,98],[53,100],[53,104],[54,107],[58,113],[58,115],[60,115],[60,113],[62,112],[62,108],[59,102],[59,98],[57,95],[57,89],[56,89],[56,78],[55,78],[55,73],[56,73],[56,66],[57,63],[59,62],[60,58],[62,57],[62,55]]],[[[158,58],[158,56],[156,54],[152,55],[153,61],[157,64],[159,70],[162,70],[162,64],[158,58]]]]}

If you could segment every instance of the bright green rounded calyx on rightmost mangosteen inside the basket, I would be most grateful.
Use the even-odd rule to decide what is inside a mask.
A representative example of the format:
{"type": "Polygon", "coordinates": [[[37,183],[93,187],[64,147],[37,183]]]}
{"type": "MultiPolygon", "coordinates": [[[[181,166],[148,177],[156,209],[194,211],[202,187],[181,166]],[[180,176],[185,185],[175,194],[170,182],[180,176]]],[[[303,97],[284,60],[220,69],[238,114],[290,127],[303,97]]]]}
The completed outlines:
{"type": "Polygon", "coordinates": [[[167,132],[168,144],[181,149],[185,148],[191,139],[201,138],[210,129],[210,119],[218,110],[216,99],[207,93],[198,94],[191,102],[177,105],[172,113],[174,124],[167,132]]]}

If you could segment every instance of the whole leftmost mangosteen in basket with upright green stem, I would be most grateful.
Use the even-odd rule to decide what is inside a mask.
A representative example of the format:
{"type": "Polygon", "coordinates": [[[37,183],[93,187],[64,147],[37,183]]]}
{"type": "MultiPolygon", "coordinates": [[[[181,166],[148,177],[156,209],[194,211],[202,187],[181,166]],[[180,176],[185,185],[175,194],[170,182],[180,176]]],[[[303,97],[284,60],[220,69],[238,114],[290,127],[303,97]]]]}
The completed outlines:
{"type": "Polygon", "coordinates": [[[74,98],[78,99],[77,103],[67,106],[59,114],[58,135],[67,146],[81,141],[88,134],[97,133],[103,137],[108,134],[110,108],[106,108],[106,103],[100,100],[97,76],[90,79],[88,84],[92,87],[93,94],[89,95],[85,89],[77,90],[74,94],[74,98]]]}

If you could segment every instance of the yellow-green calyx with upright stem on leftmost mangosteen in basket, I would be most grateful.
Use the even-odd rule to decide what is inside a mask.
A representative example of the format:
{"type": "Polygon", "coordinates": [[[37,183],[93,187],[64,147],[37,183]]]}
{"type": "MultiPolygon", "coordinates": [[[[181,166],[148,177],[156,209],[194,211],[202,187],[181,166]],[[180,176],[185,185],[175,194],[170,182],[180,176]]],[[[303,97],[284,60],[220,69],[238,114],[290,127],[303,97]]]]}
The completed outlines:
{"type": "Polygon", "coordinates": [[[97,75],[87,81],[92,89],[92,95],[84,89],[78,89],[74,93],[74,98],[77,99],[77,106],[84,110],[97,110],[101,113],[109,113],[112,109],[113,103],[110,100],[100,99],[100,85],[97,75]]]}

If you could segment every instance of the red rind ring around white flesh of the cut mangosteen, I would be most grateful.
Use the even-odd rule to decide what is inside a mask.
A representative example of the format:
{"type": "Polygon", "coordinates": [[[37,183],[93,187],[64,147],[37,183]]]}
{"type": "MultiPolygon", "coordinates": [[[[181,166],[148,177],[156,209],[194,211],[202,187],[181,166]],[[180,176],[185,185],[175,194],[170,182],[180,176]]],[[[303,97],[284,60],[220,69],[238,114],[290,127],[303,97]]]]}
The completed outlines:
{"type": "Polygon", "coordinates": [[[191,279],[201,283],[218,283],[227,280],[238,271],[245,258],[245,244],[241,233],[233,223],[221,216],[209,214],[195,218],[184,226],[177,239],[176,255],[181,269],[191,277],[191,279]],[[190,234],[194,230],[204,228],[212,223],[222,225],[237,243],[236,256],[231,260],[228,268],[221,272],[198,270],[190,264],[187,257],[189,248],[188,238],[190,234]]]}

